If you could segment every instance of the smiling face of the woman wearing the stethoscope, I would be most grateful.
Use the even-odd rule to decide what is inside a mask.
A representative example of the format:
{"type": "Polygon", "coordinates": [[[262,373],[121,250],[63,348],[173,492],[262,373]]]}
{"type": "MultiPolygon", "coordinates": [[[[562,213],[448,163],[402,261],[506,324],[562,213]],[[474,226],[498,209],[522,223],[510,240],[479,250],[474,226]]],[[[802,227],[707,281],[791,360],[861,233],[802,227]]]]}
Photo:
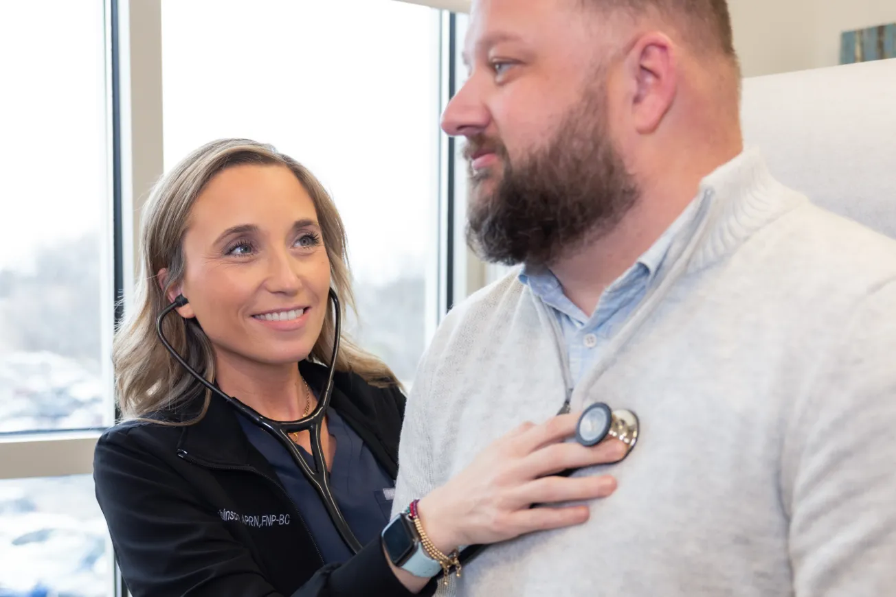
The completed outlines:
{"type": "MultiPolygon", "coordinates": [[[[297,362],[321,334],[330,260],[314,201],[286,166],[232,166],[194,202],[184,237],[189,303],[218,360],[297,362]]],[[[174,293],[170,298],[173,300],[174,293]]]]}

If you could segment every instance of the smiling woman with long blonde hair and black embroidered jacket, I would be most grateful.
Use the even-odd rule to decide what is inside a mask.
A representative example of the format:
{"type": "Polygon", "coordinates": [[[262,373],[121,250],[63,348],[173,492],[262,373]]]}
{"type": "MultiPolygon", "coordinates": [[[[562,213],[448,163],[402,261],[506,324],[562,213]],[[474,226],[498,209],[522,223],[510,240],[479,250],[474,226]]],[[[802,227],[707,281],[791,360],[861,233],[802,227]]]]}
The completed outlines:
{"type": "MultiPolygon", "coordinates": [[[[142,226],[145,275],[113,351],[125,422],[99,440],[94,463],[99,505],[135,597],[418,593],[461,544],[588,516],[583,506],[532,503],[615,489],[607,477],[545,477],[614,460],[617,446],[558,443],[572,435],[572,415],[528,425],[421,496],[406,531],[416,533],[416,564],[396,558],[380,533],[392,509],[404,397],[392,371],[343,337],[322,439],[335,499],[365,544],[353,555],[289,451],[187,374],[155,331],[159,313],[185,297],[163,330],[194,370],[271,419],[311,413],[334,341],[331,288],[351,304],[332,200],[271,147],[214,141],[159,182],[142,226]]],[[[311,453],[306,431],[292,439],[311,453]]]]}

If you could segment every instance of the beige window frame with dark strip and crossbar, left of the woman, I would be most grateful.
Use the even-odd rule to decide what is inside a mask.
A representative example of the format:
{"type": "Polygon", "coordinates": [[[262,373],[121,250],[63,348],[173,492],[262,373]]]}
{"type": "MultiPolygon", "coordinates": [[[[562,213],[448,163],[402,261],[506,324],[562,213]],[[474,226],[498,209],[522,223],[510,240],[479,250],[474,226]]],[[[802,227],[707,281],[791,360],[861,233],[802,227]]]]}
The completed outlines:
{"type": "MultiPolygon", "coordinates": [[[[110,198],[105,228],[111,235],[108,266],[112,275],[102,284],[104,294],[112,294],[107,299],[113,306],[103,324],[103,347],[108,354],[112,332],[132,298],[137,243],[134,230],[139,229],[140,208],[161,173],[161,3],[103,0],[103,13],[106,186],[110,198]]],[[[106,370],[111,390],[111,362],[106,370]]],[[[108,408],[113,405],[109,403],[108,408]]],[[[118,413],[114,415],[117,420],[118,413]]],[[[93,450],[102,431],[0,434],[0,481],[92,474],[93,450]]],[[[126,595],[114,560],[109,570],[113,594],[126,595]]]]}

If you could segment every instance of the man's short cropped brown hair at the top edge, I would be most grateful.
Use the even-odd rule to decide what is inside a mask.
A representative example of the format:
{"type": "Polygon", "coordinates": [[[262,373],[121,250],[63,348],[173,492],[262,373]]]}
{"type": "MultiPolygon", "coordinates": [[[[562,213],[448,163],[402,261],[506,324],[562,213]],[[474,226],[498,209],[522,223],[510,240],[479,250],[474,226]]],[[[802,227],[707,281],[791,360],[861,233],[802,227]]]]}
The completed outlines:
{"type": "Polygon", "coordinates": [[[634,15],[652,9],[669,17],[694,47],[719,52],[737,64],[727,0],[584,0],[584,3],[634,15]]]}

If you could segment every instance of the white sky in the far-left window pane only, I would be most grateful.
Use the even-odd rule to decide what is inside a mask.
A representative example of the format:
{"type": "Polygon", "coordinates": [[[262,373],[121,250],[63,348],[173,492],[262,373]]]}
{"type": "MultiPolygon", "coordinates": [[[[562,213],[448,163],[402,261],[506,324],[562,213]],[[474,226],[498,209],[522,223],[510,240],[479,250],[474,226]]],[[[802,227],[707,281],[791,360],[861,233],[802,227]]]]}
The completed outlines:
{"type": "Polygon", "coordinates": [[[0,5],[0,269],[107,217],[104,30],[99,1],[0,5]]]}

